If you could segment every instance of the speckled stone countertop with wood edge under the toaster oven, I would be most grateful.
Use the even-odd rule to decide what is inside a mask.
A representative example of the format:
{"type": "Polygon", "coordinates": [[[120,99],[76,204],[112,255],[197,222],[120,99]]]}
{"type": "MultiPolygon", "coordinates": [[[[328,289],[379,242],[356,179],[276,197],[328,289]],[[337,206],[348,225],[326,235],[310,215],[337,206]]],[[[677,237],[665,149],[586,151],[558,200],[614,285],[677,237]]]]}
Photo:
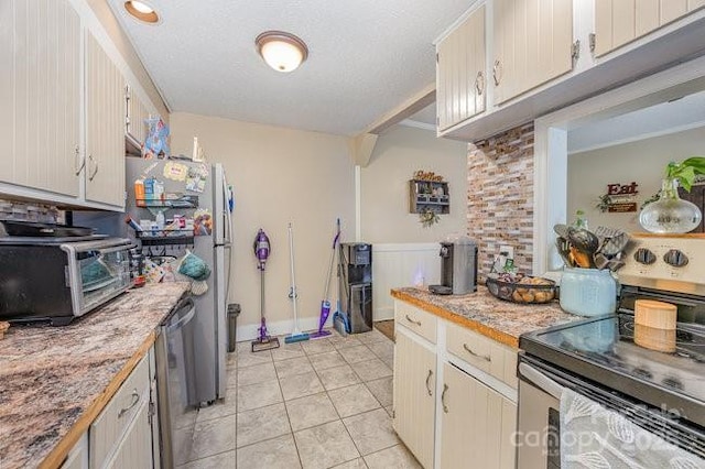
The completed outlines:
{"type": "Polygon", "coordinates": [[[65,327],[10,327],[0,340],[0,468],[61,463],[57,452],[88,428],[187,288],[129,290],[65,327]]]}

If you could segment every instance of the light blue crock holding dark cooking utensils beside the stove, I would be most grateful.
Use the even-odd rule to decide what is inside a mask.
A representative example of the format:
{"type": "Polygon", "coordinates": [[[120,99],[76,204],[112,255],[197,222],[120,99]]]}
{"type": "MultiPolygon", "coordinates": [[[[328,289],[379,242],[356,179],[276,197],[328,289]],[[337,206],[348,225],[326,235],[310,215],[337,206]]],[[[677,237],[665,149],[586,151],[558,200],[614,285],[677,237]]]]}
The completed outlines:
{"type": "Polygon", "coordinates": [[[600,316],[617,308],[617,281],[608,269],[568,269],[561,275],[561,307],[578,316],[600,316]]]}

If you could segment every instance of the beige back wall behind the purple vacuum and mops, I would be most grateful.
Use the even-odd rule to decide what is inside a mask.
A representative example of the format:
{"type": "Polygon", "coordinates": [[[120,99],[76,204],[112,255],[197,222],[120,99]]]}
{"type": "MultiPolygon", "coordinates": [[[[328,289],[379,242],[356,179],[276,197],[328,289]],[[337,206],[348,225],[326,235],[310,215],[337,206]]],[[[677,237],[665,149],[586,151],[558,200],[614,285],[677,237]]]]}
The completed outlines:
{"type": "Polygon", "coordinates": [[[272,243],[265,272],[268,325],[273,334],[291,331],[290,221],[302,329],[315,328],[336,218],[344,238],[355,233],[355,168],[347,139],[184,112],[172,113],[171,131],[173,154],[191,155],[193,137],[198,137],[208,160],[224,164],[235,189],[230,302],[242,307],[238,340],[253,337],[259,323],[260,279],[252,242],[260,227],[272,243]]]}

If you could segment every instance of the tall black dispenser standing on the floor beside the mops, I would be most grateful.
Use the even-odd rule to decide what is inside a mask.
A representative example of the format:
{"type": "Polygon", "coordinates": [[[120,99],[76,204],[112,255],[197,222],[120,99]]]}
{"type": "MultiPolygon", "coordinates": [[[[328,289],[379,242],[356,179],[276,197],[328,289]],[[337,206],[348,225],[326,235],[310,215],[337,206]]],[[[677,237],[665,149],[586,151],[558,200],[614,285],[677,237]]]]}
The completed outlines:
{"type": "Polygon", "coordinates": [[[343,242],[339,247],[340,308],[349,332],[372,330],[372,244],[343,242]]]}

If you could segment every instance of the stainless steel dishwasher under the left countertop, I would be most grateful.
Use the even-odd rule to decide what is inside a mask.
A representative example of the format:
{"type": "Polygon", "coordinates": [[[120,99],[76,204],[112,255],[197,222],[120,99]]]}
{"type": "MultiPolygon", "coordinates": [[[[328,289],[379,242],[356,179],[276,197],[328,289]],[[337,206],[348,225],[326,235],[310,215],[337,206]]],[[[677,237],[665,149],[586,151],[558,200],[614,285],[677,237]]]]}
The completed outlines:
{"type": "Polygon", "coordinates": [[[186,462],[198,413],[193,405],[195,315],[193,299],[183,298],[162,323],[154,349],[161,467],[167,469],[186,462]]]}

